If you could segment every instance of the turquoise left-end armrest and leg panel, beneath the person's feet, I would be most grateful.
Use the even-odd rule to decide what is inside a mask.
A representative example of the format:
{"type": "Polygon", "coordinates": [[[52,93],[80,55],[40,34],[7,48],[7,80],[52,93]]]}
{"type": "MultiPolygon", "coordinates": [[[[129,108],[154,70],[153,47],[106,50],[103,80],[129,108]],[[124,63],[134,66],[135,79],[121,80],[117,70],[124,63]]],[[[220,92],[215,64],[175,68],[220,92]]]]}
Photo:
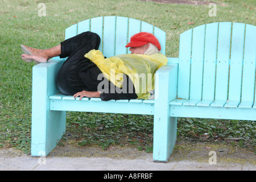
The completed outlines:
{"type": "Polygon", "coordinates": [[[31,155],[46,156],[65,133],[65,111],[49,110],[49,96],[59,92],[55,78],[60,61],[38,64],[32,75],[31,155]]]}

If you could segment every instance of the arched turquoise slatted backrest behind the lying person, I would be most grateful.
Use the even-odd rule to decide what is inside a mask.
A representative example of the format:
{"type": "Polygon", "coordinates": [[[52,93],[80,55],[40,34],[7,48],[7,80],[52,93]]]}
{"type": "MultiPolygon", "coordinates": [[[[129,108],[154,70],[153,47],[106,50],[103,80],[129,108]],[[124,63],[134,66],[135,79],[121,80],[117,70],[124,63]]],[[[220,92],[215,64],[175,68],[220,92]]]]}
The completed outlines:
{"type": "Polygon", "coordinates": [[[97,33],[101,38],[100,51],[106,57],[130,53],[126,44],[131,36],[139,32],[150,32],[158,38],[161,51],[165,54],[166,32],[141,20],[121,16],[100,16],[74,24],[65,30],[65,39],[85,31],[97,33]]]}

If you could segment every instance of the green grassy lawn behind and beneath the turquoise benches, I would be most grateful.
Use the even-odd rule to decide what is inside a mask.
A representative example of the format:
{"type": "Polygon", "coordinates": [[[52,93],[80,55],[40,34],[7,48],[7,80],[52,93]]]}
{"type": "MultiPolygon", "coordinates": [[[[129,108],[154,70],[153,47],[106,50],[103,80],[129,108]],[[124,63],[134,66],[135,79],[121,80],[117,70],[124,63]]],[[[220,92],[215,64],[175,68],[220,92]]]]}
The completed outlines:
{"type": "MultiPolygon", "coordinates": [[[[208,5],[177,5],[137,0],[0,0],[0,147],[16,147],[27,154],[31,140],[31,85],[34,63],[20,58],[20,44],[36,48],[56,46],[64,40],[65,28],[97,16],[126,16],[154,24],[167,32],[166,56],[179,55],[179,34],[212,22],[242,22],[255,25],[254,0],[216,0],[217,14],[209,16],[208,5]],[[39,16],[39,3],[46,16],[39,16]]],[[[147,115],[67,113],[65,139],[80,145],[98,143],[134,144],[151,151],[153,118],[147,115]]],[[[255,122],[180,118],[178,138],[224,142],[244,139],[234,145],[254,151],[255,122]],[[209,138],[202,135],[208,133],[209,138]]]]}

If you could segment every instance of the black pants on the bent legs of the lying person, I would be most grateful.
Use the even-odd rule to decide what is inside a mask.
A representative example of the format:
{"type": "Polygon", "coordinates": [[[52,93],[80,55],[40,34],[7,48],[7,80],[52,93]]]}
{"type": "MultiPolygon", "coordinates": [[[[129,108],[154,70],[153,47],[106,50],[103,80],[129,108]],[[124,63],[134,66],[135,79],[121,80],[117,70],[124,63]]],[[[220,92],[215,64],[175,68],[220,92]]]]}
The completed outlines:
{"type": "Polygon", "coordinates": [[[101,82],[97,76],[100,69],[84,57],[92,49],[98,49],[100,36],[84,32],[61,42],[61,58],[68,57],[57,75],[57,86],[61,93],[73,95],[82,90],[97,91],[101,82]]]}

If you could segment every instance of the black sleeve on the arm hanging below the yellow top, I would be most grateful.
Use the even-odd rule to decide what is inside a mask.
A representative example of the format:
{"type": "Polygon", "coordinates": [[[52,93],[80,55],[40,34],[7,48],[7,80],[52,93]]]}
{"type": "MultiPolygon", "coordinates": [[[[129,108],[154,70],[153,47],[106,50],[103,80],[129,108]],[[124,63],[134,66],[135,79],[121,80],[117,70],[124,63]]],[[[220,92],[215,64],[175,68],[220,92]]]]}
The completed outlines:
{"type": "Polygon", "coordinates": [[[123,75],[123,86],[119,88],[112,84],[111,81],[108,81],[108,84],[105,83],[105,86],[108,85],[108,88],[104,87],[104,90],[101,91],[100,98],[102,101],[109,100],[131,100],[138,98],[135,93],[135,88],[133,82],[130,80],[129,76],[123,75]]]}

